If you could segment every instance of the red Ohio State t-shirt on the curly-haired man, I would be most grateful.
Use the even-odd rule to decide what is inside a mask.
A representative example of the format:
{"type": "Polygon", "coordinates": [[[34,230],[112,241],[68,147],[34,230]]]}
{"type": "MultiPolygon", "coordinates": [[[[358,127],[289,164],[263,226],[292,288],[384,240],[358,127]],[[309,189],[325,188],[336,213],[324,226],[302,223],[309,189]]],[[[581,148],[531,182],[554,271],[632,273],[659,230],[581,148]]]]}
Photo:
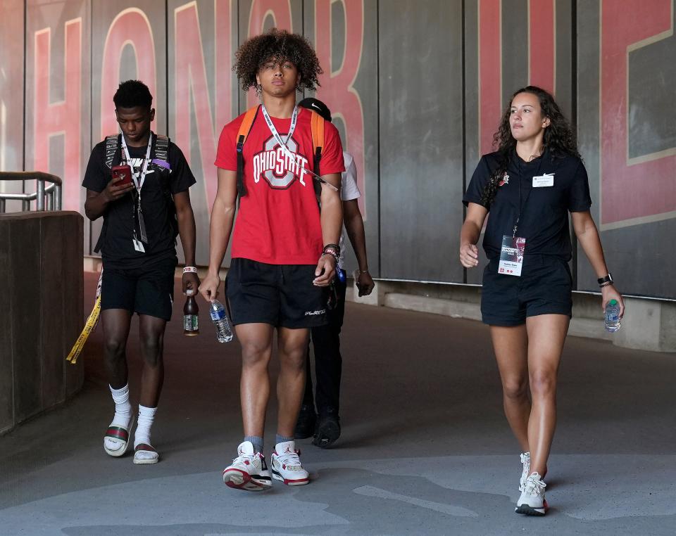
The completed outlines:
{"type": "MultiPolygon", "coordinates": [[[[313,178],[312,112],[299,108],[296,129],[287,147],[299,155],[287,158],[258,110],[244,143],[244,187],[232,236],[232,258],[268,264],[316,264],[323,249],[319,207],[313,178]],[[300,164],[300,165],[299,165],[300,164]]],[[[237,171],[237,132],[244,114],[223,127],[215,165],[237,171]]],[[[277,132],[286,139],[291,119],[272,117],[277,132]]],[[[338,131],[324,125],[322,175],[344,172],[338,131]]]]}

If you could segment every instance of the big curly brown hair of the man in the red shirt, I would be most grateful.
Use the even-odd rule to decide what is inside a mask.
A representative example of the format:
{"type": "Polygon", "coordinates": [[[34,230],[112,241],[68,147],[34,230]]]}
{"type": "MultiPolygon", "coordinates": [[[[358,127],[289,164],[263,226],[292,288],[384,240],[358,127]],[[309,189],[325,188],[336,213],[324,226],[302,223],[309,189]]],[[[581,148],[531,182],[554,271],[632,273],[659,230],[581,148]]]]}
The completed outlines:
{"type": "Polygon", "coordinates": [[[318,76],[323,70],[319,65],[317,54],[310,42],[299,34],[290,34],[286,30],[271,28],[268,32],[247,39],[234,54],[235,63],[232,68],[242,89],[247,91],[256,87],[258,70],[270,60],[289,60],[298,69],[301,81],[298,90],[315,91],[320,85],[318,76]]]}

